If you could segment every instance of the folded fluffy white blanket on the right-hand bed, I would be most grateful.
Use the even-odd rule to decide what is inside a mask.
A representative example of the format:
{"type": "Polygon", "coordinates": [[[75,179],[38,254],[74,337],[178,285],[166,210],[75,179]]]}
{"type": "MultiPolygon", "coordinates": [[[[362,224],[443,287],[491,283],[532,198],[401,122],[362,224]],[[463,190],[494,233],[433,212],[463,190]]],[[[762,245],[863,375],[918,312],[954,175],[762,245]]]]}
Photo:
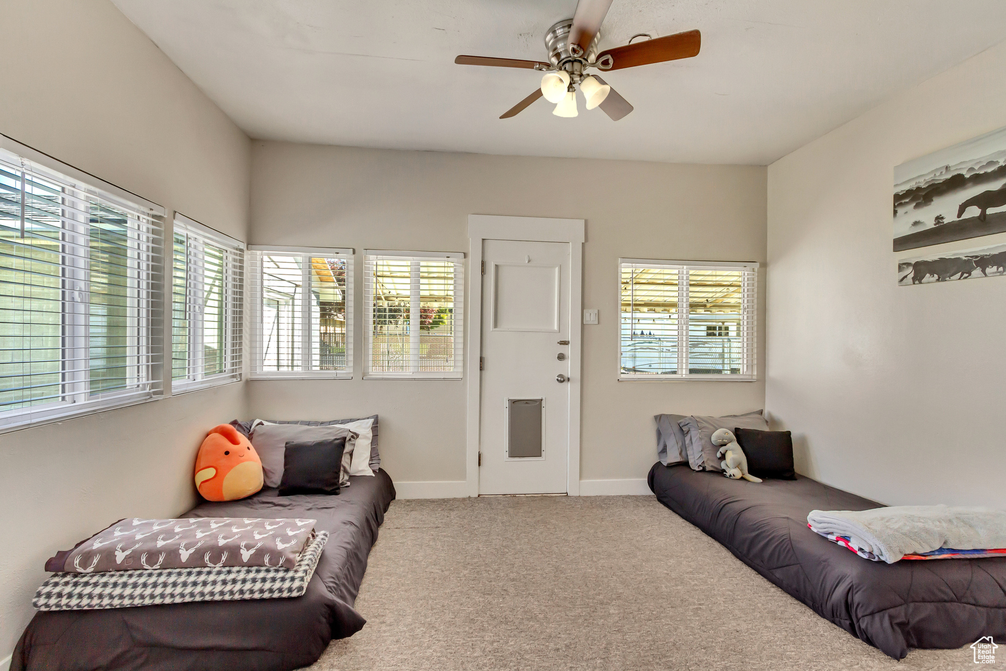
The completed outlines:
{"type": "Polygon", "coordinates": [[[807,521],[825,533],[849,536],[887,563],[940,547],[1006,547],[1006,512],[991,508],[939,505],[812,510],[807,521]]]}

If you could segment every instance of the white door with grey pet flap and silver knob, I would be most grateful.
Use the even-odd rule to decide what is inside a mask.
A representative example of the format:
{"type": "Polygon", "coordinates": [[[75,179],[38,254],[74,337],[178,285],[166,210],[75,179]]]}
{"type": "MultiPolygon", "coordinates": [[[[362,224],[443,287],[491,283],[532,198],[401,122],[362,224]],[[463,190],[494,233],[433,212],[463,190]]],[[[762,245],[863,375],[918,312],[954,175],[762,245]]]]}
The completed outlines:
{"type": "Polygon", "coordinates": [[[569,243],[483,242],[480,494],[566,491],[569,243]]]}

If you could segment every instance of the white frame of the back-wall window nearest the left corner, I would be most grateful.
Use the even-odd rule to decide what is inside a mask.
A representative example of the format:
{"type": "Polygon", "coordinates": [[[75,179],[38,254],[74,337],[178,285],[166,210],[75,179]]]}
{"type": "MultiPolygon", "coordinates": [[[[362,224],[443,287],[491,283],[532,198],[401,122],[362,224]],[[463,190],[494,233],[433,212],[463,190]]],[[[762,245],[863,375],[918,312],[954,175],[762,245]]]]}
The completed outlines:
{"type": "MultiPolygon", "coordinates": [[[[250,294],[252,306],[252,370],[248,379],[352,379],[355,374],[355,362],[353,361],[353,298],[354,298],[354,270],[353,258],[355,249],[353,247],[316,247],[316,246],[287,246],[276,244],[249,244],[248,250],[248,293],[250,294]],[[304,340],[311,336],[310,302],[307,294],[310,292],[309,283],[305,282],[301,286],[301,370],[262,370],[263,357],[263,269],[262,258],[264,256],[278,257],[321,257],[326,259],[344,259],[346,261],[346,289],[345,289],[345,318],[346,318],[346,369],[345,370],[311,370],[304,369],[304,340]],[[308,322],[305,328],[304,322],[308,322]]],[[[305,266],[304,276],[310,276],[310,269],[305,266]]],[[[310,342],[310,340],[308,340],[310,342]]],[[[307,348],[311,352],[310,346],[307,348]]]]}

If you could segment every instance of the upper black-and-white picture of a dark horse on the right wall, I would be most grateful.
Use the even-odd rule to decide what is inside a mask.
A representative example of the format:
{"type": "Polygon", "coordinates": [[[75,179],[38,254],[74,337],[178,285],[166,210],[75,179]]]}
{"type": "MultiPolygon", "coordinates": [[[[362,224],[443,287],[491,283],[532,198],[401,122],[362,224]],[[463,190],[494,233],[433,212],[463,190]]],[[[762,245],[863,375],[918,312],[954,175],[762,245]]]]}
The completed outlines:
{"type": "Polygon", "coordinates": [[[894,168],[894,251],[1006,231],[1006,128],[894,168]]]}

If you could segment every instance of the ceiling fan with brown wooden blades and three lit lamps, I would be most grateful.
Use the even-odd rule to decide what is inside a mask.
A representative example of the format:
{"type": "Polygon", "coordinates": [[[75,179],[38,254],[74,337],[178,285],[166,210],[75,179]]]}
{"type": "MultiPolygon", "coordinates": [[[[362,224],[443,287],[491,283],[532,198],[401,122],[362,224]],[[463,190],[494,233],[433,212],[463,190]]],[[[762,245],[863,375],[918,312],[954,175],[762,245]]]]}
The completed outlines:
{"type": "MultiPolygon", "coordinates": [[[[545,33],[548,61],[493,58],[491,56],[458,56],[459,65],[493,65],[495,67],[526,67],[542,70],[541,87],[533,94],[505,112],[500,119],[516,117],[539,98],[555,103],[552,112],[557,117],[576,116],[576,89],[586,99],[586,109],[601,108],[613,121],[622,119],[633,111],[626,99],[597,74],[588,74],[586,68],[600,70],[622,69],[648,65],[665,60],[691,58],[698,55],[701,36],[698,30],[679,32],[666,37],[656,37],[644,42],[617,46],[598,53],[601,41],[601,24],[613,0],[579,0],[571,19],[559,21],[545,33]]],[[[639,37],[641,35],[636,35],[639,37]]]]}

